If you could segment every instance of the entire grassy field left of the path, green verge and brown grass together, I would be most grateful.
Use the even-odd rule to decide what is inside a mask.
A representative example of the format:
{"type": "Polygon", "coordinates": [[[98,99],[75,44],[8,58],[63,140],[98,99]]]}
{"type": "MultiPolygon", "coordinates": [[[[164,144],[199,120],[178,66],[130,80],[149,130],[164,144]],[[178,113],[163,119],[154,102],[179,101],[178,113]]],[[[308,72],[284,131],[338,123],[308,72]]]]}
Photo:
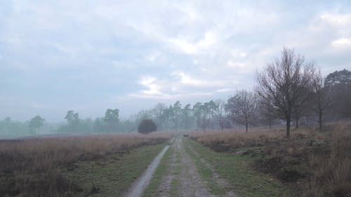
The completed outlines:
{"type": "Polygon", "coordinates": [[[105,183],[131,183],[161,150],[156,144],[170,137],[153,133],[0,141],[0,196],[110,192],[105,183]],[[111,174],[114,170],[117,176],[111,174]]]}

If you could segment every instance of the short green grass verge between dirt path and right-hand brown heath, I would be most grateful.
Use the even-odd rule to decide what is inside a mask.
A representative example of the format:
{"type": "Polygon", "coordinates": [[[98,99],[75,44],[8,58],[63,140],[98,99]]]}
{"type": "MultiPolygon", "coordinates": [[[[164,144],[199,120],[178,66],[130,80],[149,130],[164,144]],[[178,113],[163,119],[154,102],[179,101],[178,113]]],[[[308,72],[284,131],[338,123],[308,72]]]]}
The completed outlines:
{"type": "MultiPolygon", "coordinates": [[[[185,143],[190,144],[201,157],[209,161],[216,172],[234,186],[234,191],[240,196],[299,196],[293,188],[274,177],[253,170],[251,163],[256,159],[253,156],[218,153],[194,140],[185,140],[185,143]]],[[[199,170],[204,177],[208,176],[208,172],[201,172],[201,168],[199,170]]]]}

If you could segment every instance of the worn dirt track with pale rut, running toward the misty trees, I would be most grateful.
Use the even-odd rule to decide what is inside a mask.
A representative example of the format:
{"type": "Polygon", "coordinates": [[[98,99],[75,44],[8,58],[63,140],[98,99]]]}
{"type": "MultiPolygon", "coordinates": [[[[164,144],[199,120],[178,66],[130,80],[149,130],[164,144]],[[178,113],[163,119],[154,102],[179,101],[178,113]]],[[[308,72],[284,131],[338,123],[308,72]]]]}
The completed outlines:
{"type": "MultiPolygon", "coordinates": [[[[225,194],[221,196],[237,197],[237,194],[230,190],[232,187],[230,186],[229,182],[220,178],[213,166],[206,162],[204,158],[201,158],[201,156],[199,156],[199,154],[192,149],[190,144],[187,144],[186,142],[187,141],[184,142],[183,137],[180,136],[173,140],[173,144],[170,147],[172,154],[170,158],[167,159],[168,161],[166,163],[166,165],[169,166],[168,172],[166,172],[166,175],[163,175],[161,184],[159,184],[157,193],[155,193],[154,196],[219,196],[213,195],[210,192],[210,189],[207,187],[209,184],[216,184],[220,189],[225,191],[225,194]],[[198,160],[195,161],[195,158],[198,160]],[[197,164],[195,162],[197,162],[197,164]],[[201,179],[199,169],[197,169],[198,163],[201,163],[204,168],[210,170],[211,179],[206,179],[206,181],[201,179]]],[[[163,150],[162,152],[165,151],[163,150]]],[[[163,156],[164,153],[162,154],[162,152],[159,154],[159,156],[163,156]]],[[[159,156],[157,156],[157,158],[160,160],[161,157],[159,156]]],[[[157,160],[157,158],[155,158],[155,160],[157,160]]],[[[152,166],[152,168],[156,168],[158,163],[154,164],[154,162],[152,162],[152,165],[150,166],[152,166]]],[[[143,176],[138,179],[138,182],[133,184],[126,196],[142,196],[145,187],[150,182],[153,172],[154,170],[152,172],[145,172],[143,176]],[[145,176],[147,177],[145,178],[145,176]]]]}

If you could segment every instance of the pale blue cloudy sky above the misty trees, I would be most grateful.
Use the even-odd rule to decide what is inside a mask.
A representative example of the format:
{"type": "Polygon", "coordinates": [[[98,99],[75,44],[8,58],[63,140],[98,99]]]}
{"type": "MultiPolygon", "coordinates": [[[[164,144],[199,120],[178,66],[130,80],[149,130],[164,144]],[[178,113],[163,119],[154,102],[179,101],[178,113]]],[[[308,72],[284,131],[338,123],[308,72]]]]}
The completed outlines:
{"type": "Polygon", "coordinates": [[[0,0],[0,119],[227,99],[284,47],[351,69],[351,1],[0,0]]]}

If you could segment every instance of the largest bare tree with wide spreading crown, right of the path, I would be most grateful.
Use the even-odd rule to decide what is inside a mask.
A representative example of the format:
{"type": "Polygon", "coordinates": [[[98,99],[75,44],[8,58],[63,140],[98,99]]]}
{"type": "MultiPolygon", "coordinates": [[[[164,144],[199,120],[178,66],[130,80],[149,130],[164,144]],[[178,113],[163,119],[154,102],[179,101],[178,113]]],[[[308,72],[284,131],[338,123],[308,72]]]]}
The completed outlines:
{"type": "Polygon", "coordinates": [[[284,48],[282,57],[267,64],[263,72],[257,74],[258,95],[271,102],[277,114],[286,120],[286,137],[290,136],[293,109],[306,102],[309,95],[305,89],[310,87],[314,76],[314,62],[305,62],[302,55],[284,48]]]}

